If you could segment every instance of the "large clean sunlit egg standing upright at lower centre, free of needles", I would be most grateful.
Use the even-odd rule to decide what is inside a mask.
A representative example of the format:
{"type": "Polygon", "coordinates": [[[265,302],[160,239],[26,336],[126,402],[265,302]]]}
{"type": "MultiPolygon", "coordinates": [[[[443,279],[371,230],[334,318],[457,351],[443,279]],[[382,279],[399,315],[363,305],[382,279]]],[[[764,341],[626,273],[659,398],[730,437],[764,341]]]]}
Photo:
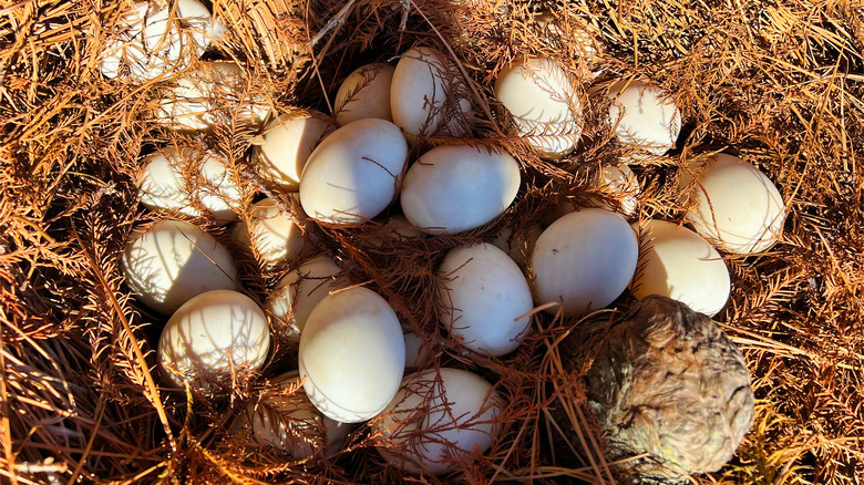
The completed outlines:
{"type": "Polygon", "coordinates": [[[312,404],[332,420],[359,423],[380,413],[399,390],[405,340],[383,298],[350,288],[315,307],[298,360],[312,404]]]}

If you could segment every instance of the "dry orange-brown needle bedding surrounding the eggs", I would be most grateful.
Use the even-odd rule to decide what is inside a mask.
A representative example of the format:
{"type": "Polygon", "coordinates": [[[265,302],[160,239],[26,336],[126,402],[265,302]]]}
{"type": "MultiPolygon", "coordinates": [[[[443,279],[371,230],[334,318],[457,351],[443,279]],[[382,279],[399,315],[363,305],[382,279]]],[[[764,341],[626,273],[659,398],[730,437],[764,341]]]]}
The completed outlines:
{"type": "MultiPolygon", "coordinates": [[[[226,436],[232,416],[290,362],[238,382],[225,403],[157,392],[153,348],[162,321],[130,297],[119,257],[133,226],[162,217],[137,205],[141,152],[183,136],[147,121],[157,82],[124,84],[97,69],[125,6],[0,2],[1,481],[401,482],[407,477],[382,466],[368,446],[363,427],[337,457],[304,463],[247,453],[226,436]]],[[[542,162],[502,135],[500,106],[492,100],[496,73],[523,53],[551,56],[585,78],[596,65],[580,60],[568,35],[588,25],[604,45],[597,62],[604,68],[600,86],[608,79],[647,76],[673,93],[686,121],[687,137],[678,149],[637,167],[644,185],[640,217],[680,220],[676,167],[720,149],[765,172],[788,204],[780,244],[759,256],[727,260],[732,297],[717,319],[745,355],[755,420],[734,461],[695,481],[860,483],[860,2],[356,0],[343,8],[339,1],[215,0],[212,7],[229,35],[208,55],[240,62],[255,80],[253,89],[272,93],[268,100],[276,109],[329,112],[328,100],[356,66],[385,61],[415,43],[435,45],[460,61],[454,75],[471,81],[483,113],[475,143],[504,144],[520,155],[524,183],[517,203],[488,227],[387,250],[360,245],[374,227],[313,231],[316,242],[343,261],[357,281],[368,281],[403,319],[441,342],[440,363],[485,375],[507,398],[501,438],[452,479],[609,479],[603,467],[551,444],[551,430],[580,430],[586,421],[578,379],[560,370],[558,350],[549,345],[573,322],[537,317],[537,332],[517,352],[482,359],[441,339],[426,297],[442,251],[488,240],[507,225],[527,227],[555,199],[578,203],[586,193],[584,177],[572,175],[580,173],[576,168],[611,163],[620,153],[608,126],[597,122],[605,106],[595,102],[588,105],[579,149],[564,164],[542,162]],[[543,12],[551,13],[557,32],[536,22],[543,12]],[[560,393],[549,391],[552,382],[560,393]],[[567,411],[563,420],[552,412],[562,409],[567,411]]],[[[226,128],[191,142],[226,153],[248,175],[249,200],[256,192],[280,196],[246,162],[255,135],[226,128]]],[[[257,298],[288,269],[261,271],[251,257],[241,262],[245,286],[257,298]]],[[[276,353],[291,354],[285,342],[277,343],[276,353]]],[[[585,433],[580,437],[585,441],[573,438],[574,447],[592,447],[585,433]]]]}

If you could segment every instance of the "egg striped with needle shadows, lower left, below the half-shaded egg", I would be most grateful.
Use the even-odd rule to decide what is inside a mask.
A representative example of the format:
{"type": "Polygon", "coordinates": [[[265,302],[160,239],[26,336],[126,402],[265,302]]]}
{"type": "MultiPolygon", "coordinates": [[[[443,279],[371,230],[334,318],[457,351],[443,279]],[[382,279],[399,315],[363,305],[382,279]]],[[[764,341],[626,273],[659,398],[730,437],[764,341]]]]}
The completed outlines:
{"type": "Polygon", "coordinates": [[[270,328],[258,305],[237,291],[215,290],[193,297],[171,316],[157,357],[174,388],[189,381],[208,390],[261,369],[269,351],[270,328]]]}

